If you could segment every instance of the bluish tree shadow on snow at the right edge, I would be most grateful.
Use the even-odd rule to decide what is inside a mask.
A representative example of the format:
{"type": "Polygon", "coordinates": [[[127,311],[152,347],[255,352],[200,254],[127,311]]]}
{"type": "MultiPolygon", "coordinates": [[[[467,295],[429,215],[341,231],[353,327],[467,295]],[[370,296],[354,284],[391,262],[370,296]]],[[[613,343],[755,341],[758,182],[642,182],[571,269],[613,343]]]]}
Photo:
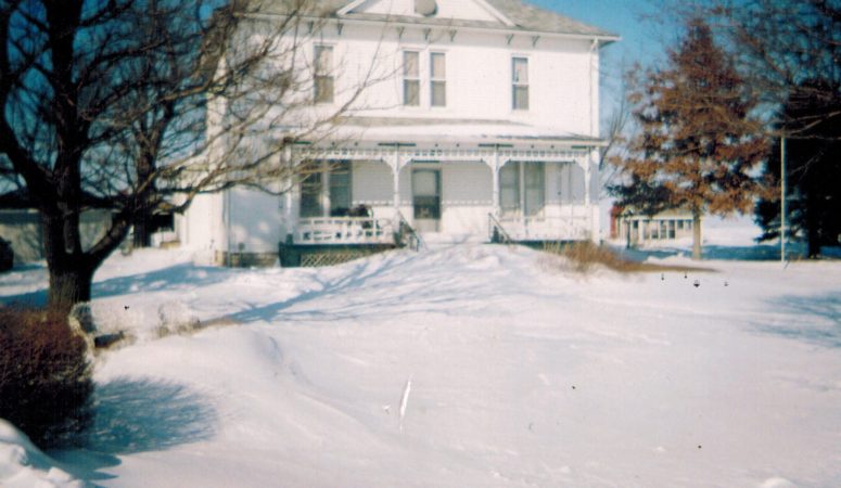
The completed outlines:
{"type": "Polygon", "coordinates": [[[817,296],[781,296],[767,301],[769,311],[785,313],[786,324],[761,324],[763,333],[829,348],[841,348],[841,291],[817,296]]]}

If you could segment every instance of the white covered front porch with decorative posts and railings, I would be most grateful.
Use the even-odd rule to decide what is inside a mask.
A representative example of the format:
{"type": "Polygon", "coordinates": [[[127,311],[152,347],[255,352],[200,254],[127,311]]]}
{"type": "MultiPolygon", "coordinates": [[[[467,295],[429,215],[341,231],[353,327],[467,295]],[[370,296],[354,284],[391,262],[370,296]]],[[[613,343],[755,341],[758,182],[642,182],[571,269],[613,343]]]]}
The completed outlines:
{"type": "Polygon", "coordinates": [[[569,137],[370,134],[347,144],[298,143],[288,153],[290,164],[310,171],[284,196],[283,235],[295,245],[396,243],[407,231],[596,240],[599,144],[569,137]]]}

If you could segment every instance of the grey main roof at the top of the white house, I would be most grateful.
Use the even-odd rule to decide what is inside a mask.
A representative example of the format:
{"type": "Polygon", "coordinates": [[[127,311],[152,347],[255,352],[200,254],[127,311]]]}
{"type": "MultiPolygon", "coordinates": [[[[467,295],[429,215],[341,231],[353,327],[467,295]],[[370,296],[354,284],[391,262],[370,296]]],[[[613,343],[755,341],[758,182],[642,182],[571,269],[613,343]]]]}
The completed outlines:
{"type": "MultiPolygon", "coordinates": [[[[463,1],[463,0],[438,0],[438,1],[463,1]]],[[[374,13],[358,12],[353,8],[351,0],[318,0],[316,2],[314,14],[333,18],[372,21],[372,22],[393,22],[398,24],[418,24],[436,25],[449,27],[476,27],[501,30],[523,30],[525,33],[540,34],[560,34],[584,37],[600,37],[607,40],[616,40],[619,36],[602,30],[598,27],[584,24],[561,15],[551,10],[541,9],[528,4],[522,0],[480,0],[490,8],[495,9],[502,18],[510,21],[513,25],[508,25],[500,20],[499,22],[489,21],[470,21],[460,18],[443,18],[436,16],[409,16],[409,15],[383,15],[374,13]],[[352,7],[348,9],[348,7],[352,7]]],[[[288,14],[292,4],[300,4],[300,0],[268,0],[259,9],[264,13],[288,14]]]]}

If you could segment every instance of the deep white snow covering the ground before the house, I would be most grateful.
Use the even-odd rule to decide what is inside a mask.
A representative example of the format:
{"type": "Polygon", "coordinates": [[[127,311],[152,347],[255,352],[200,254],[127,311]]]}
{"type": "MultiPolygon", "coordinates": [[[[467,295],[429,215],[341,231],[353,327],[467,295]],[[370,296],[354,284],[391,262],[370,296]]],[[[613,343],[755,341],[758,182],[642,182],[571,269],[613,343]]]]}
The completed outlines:
{"type": "MultiPolygon", "coordinates": [[[[0,423],[0,486],[841,486],[841,262],[703,266],[117,255],[92,306],[137,339],[97,358],[87,449],[48,458],[0,423]]],[[[44,286],[0,275],[4,301],[44,286]]]]}

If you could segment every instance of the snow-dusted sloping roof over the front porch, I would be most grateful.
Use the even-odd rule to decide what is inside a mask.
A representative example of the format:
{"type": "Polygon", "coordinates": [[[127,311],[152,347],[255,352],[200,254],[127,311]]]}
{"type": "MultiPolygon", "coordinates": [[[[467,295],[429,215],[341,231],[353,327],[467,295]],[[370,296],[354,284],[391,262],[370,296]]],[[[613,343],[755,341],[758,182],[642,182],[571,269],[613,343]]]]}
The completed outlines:
{"type": "Polygon", "coordinates": [[[588,149],[606,145],[602,139],[560,133],[514,120],[429,117],[343,117],[330,140],[442,149],[588,149]]]}

